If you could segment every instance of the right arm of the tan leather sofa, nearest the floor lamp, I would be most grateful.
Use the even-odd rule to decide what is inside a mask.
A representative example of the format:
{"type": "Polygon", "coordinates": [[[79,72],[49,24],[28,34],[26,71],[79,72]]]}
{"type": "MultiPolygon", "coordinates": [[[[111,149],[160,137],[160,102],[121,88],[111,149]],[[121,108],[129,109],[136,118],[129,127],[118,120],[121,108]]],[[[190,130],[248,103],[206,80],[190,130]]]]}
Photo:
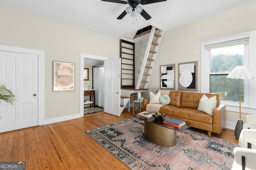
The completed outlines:
{"type": "Polygon", "coordinates": [[[212,132],[220,134],[226,125],[226,106],[218,105],[213,109],[212,132]]]}

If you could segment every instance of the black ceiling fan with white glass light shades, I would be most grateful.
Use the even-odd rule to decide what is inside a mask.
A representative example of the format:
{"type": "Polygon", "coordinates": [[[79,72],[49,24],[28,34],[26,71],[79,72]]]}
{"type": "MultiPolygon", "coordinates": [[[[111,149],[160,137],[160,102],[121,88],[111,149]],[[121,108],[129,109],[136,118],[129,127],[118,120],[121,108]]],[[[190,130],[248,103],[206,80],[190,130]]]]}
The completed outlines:
{"type": "Polygon", "coordinates": [[[131,16],[134,17],[136,15],[136,12],[137,14],[142,15],[146,20],[149,20],[151,16],[145,10],[143,10],[142,7],[138,5],[152,4],[152,3],[163,2],[167,0],[127,0],[128,2],[123,0],[102,0],[102,1],[130,5],[129,7],[125,8],[124,12],[122,12],[120,16],[118,16],[117,18],[118,20],[121,20],[122,18],[124,18],[126,14],[131,14],[131,16]]]}

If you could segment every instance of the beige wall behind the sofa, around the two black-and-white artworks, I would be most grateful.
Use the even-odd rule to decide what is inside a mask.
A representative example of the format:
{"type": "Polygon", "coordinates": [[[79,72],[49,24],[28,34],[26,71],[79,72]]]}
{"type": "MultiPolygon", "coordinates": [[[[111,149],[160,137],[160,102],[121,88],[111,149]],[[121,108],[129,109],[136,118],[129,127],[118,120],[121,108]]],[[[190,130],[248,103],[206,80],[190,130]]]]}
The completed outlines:
{"type": "MultiPolygon", "coordinates": [[[[165,32],[149,90],[144,94],[144,98],[148,98],[149,91],[155,93],[160,88],[160,65],[176,64],[176,90],[178,90],[178,63],[190,61],[198,61],[198,92],[200,92],[201,42],[256,30],[255,8],[256,1],[165,32]]],[[[239,113],[227,111],[227,122],[236,123],[238,119],[239,113]]],[[[246,114],[242,115],[242,119],[246,121],[246,114]]]]}

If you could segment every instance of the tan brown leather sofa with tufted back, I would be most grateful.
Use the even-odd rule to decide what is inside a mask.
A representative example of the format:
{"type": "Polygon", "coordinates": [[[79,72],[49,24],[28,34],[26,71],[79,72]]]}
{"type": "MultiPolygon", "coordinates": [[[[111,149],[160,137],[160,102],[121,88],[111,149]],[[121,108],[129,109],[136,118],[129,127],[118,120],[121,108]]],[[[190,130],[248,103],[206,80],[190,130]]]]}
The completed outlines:
{"type": "MultiPolygon", "coordinates": [[[[217,105],[213,109],[213,115],[197,110],[203,93],[182,91],[170,91],[168,95],[171,99],[170,104],[161,106],[159,112],[166,114],[168,117],[188,121],[192,124],[192,127],[197,129],[208,131],[208,137],[211,137],[212,132],[220,134],[226,125],[226,106],[220,105],[218,94],[204,94],[208,98],[216,96],[217,105]]],[[[149,99],[143,100],[143,111],[146,110],[148,103],[149,99]]]]}

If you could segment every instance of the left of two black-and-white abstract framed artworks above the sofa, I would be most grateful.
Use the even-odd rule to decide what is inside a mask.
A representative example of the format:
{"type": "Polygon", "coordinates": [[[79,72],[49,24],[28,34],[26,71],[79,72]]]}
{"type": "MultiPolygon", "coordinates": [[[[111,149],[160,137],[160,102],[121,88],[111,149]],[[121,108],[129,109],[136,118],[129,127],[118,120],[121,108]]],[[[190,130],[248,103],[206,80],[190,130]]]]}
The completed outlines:
{"type": "Polygon", "coordinates": [[[175,90],[175,64],[160,66],[160,88],[175,90]]]}

